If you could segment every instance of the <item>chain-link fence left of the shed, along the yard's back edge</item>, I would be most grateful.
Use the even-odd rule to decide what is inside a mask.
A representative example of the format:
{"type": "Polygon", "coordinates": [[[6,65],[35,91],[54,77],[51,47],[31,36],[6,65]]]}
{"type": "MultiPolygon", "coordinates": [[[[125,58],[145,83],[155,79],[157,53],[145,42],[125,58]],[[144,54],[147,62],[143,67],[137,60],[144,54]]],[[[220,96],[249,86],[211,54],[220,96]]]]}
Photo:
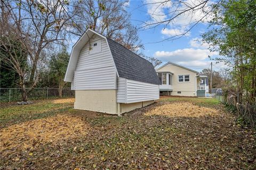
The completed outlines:
{"type": "MultiPolygon", "coordinates": [[[[62,98],[75,97],[75,91],[62,88],[62,98]]],[[[59,88],[34,88],[28,100],[59,98],[59,88]]],[[[0,102],[21,101],[21,88],[0,88],[0,102]]]]}

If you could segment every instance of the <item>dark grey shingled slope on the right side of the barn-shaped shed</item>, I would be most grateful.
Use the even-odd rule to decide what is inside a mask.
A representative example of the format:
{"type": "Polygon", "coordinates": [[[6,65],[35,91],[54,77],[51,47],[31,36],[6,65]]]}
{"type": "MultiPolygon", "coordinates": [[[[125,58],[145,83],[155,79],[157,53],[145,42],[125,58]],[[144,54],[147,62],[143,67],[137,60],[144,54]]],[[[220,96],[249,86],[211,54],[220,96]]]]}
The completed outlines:
{"type": "Polygon", "coordinates": [[[119,77],[144,83],[161,84],[153,64],[107,38],[119,77]]]}

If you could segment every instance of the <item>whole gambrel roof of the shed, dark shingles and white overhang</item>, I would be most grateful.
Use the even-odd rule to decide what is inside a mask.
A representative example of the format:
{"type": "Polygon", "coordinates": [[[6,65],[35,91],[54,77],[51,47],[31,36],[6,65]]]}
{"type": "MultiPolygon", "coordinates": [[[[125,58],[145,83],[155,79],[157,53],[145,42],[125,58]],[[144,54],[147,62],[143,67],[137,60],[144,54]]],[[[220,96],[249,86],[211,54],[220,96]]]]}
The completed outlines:
{"type": "Polygon", "coordinates": [[[151,62],[141,58],[141,56],[128,50],[121,44],[118,44],[115,41],[91,29],[87,29],[84,35],[81,36],[81,38],[79,38],[77,43],[73,46],[67,72],[65,75],[66,82],[72,81],[79,52],[81,51],[84,44],[89,41],[89,37],[92,36],[92,34],[97,34],[106,39],[115,62],[118,77],[150,84],[161,84],[157,77],[155,68],[151,62]]]}

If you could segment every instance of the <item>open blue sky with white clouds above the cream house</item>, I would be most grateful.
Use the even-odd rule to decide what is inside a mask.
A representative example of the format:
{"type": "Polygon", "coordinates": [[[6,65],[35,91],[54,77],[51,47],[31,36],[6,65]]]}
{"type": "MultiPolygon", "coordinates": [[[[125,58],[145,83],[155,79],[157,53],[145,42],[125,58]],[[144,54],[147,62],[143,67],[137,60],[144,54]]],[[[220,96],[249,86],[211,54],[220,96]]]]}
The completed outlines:
{"type": "MultiPolygon", "coordinates": [[[[159,1],[161,0],[131,0],[127,6],[127,10],[132,14],[131,19],[133,25],[141,27],[143,24],[141,25],[141,22],[139,21],[151,23],[170,18],[170,15],[164,14],[167,10],[170,10],[172,7],[171,4],[164,4],[161,7],[158,7],[158,4],[142,5],[143,3],[146,4],[159,1]],[[154,11],[154,13],[151,11],[154,11]]],[[[195,1],[186,0],[186,2],[194,3],[195,1]]],[[[200,42],[201,34],[207,31],[207,22],[198,23],[186,36],[175,39],[174,41],[154,43],[162,41],[173,35],[183,33],[188,29],[185,27],[185,25],[197,20],[201,16],[202,13],[198,11],[193,15],[185,14],[167,26],[159,25],[156,28],[140,30],[139,36],[145,46],[143,53],[145,53],[147,56],[155,56],[156,58],[162,60],[163,63],[171,61],[197,71],[201,71],[204,68],[209,68],[211,61],[209,60],[208,55],[214,58],[218,55],[218,52],[210,52],[207,50],[209,45],[202,44],[202,42],[200,42]]],[[[205,21],[206,20],[207,19],[205,19],[205,21]]],[[[215,63],[214,61],[213,65],[213,69],[217,70],[224,67],[222,63],[215,63]]]]}

